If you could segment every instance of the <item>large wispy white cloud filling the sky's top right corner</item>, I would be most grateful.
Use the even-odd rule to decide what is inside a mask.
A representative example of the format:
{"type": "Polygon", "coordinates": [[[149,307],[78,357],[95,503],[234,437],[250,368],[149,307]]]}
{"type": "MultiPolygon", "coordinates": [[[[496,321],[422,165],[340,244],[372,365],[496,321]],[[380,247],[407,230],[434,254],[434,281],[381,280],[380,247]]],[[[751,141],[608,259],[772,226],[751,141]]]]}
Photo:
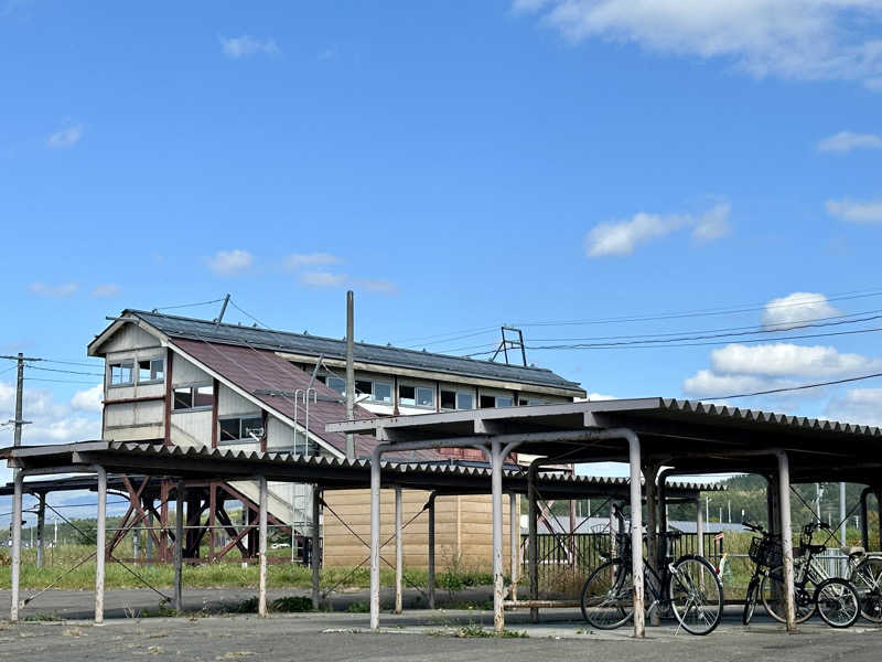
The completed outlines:
{"type": "Polygon", "coordinates": [[[722,58],[753,76],[882,77],[878,0],[515,0],[572,41],[604,39],[722,58]]]}

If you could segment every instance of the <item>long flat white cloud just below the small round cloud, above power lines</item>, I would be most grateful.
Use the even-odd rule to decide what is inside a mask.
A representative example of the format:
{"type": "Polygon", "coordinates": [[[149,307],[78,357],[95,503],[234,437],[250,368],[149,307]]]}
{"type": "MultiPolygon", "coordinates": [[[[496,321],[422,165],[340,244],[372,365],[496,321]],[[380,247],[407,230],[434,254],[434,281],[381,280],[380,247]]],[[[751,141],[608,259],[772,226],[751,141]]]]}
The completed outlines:
{"type": "Polygon", "coordinates": [[[811,377],[829,380],[864,372],[882,371],[882,359],[841,353],[836,348],[770,343],[729,344],[710,354],[718,375],[759,375],[766,377],[811,377]]]}

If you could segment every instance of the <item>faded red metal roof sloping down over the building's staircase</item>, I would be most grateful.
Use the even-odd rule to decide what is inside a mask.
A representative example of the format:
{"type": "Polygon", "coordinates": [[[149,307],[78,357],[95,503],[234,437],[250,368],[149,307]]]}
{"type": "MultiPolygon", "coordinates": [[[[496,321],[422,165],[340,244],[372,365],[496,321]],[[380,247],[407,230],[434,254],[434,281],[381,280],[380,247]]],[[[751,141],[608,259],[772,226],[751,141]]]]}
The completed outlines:
{"type": "MultiPolygon", "coordinates": [[[[239,345],[227,345],[200,340],[172,339],[172,344],[193,356],[200,363],[229,380],[233,384],[258,398],[270,409],[289,418],[294,417],[294,398],[290,395],[268,394],[267,392],[292,393],[299,388],[305,389],[310,383],[310,373],[306,373],[275,352],[257,350],[239,345]]],[[[329,388],[320,381],[312,385],[320,398],[340,398],[340,393],[329,388]]],[[[374,418],[376,414],[364,407],[355,406],[355,418],[374,418]]],[[[305,413],[303,404],[298,407],[298,424],[303,425],[305,413]]],[[[346,435],[342,433],[327,433],[325,425],[346,420],[346,405],[342,402],[319,399],[310,403],[310,431],[320,437],[340,452],[346,452],[346,435]]],[[[377,445],[374,437],[366,435],[355,436],[355,453],[357,457],[369,457],[377,445]]],[[[391,457],[389,459],[392,459],[391,457]]],[[[432,461],[447,459],[445,456],[431,450],[407,452],[399,459],[432,461]]]]}

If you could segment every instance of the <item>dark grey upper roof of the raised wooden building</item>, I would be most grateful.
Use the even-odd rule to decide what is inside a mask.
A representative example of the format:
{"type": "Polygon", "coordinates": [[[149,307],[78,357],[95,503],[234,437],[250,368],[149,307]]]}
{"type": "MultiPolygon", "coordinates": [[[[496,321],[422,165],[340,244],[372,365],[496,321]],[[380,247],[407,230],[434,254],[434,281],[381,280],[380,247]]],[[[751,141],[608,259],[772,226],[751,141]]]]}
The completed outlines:
{"type": "MultiPolygon", "coordinates": [[[[133,314],[150,325],[159,329],[171,338],[207,340],[232,345],[250,345],[252,348],[277,352],[290,352],[325,357],[345,359],[346,343],[343,340],[322,338],[289,331],[275,331],[238,324],[215,324],[213,321],[193,318],[147,312],[143,310],[122,311],[122,314],[133,314]]],[[[377,345],[370,343],[355,343],[355,360],[375,365],[391,367],[417,369],[450,375],[477,377],[517,382],[536,386],[547,386],[572,391],[573,395],[584,394],[577,382],[570,382],[542,367],[524,367],[506,365],[491,361],[477,361],[462,356],[434,354],[394,348],[391,345],[377,345]]]]}

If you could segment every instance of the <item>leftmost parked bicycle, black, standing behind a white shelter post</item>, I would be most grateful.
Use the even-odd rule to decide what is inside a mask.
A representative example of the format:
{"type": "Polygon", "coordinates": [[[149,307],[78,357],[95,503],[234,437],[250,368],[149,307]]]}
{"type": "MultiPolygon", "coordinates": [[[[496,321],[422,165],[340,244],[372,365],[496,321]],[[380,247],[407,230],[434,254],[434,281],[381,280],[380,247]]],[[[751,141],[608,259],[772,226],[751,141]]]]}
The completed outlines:
{"type": "MultiPolygon", "coordinates": [[[[687,632],[709,634],[723,613],[723,585],[717,572],[706,558],[693,554],[674,560],[671,542],[680,537],[680,532],[658,536],[665,542],[662,574],[643,562],[643,585],[653,597],[647,615],[654,609],[659,613],[669,609],[687,632]]],[[[599,630],[619,628],[634,616],[631,536],[616,534],[615,540],[621,555],[595,568],[582,587],[582,617],[599,630]]]]}

